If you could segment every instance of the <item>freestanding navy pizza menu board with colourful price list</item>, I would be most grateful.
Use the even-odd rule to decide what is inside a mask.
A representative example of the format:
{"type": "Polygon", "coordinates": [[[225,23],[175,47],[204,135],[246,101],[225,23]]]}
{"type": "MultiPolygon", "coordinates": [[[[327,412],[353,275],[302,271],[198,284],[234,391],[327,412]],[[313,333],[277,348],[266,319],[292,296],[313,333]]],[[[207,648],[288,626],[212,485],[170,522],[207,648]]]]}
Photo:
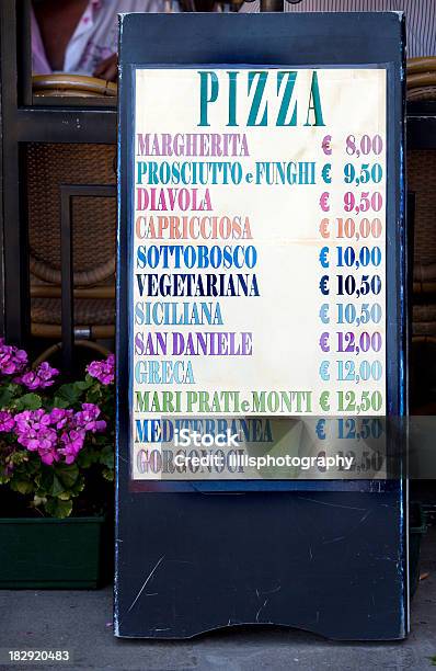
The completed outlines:
{"type": "Polygon", "coordinates": [[[121,18],[118,636],[406,634],[403,39],[121,18]]]}

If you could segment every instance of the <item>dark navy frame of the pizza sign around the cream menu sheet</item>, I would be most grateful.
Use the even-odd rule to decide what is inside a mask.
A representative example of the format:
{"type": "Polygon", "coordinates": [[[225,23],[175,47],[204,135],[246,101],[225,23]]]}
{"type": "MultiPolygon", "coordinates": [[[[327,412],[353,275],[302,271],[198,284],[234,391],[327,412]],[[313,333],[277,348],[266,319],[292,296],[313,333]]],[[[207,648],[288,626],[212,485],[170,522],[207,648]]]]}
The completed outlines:
{"type": "Polygon", "coordinates": [[[269,491],[248,491],[250,482],[209,482],[202,491],[196,482],[195,489],[186,485],[188,493],[133,492],[127,395],[133,66],[374,64],[388,73],[388,409],[391,416],[405,411],[403,35],[403,21],[392,13],[131,14],[122,22],[118,636],[184,638],[265,623],[336,639],[406,634],[402,481],[268,482],[269,491]]]}

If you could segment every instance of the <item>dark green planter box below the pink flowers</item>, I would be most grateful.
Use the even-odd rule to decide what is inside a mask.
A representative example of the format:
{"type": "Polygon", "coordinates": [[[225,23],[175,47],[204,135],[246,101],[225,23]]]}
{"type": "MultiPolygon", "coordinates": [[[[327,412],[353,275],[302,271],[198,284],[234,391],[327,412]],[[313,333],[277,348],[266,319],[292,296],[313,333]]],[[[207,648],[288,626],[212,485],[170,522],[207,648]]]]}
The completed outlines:
{"type": "Polygon", "coordinates": [[[96,589],[110,535],[105,518],[0,518],[0,589],[96,589]]]}

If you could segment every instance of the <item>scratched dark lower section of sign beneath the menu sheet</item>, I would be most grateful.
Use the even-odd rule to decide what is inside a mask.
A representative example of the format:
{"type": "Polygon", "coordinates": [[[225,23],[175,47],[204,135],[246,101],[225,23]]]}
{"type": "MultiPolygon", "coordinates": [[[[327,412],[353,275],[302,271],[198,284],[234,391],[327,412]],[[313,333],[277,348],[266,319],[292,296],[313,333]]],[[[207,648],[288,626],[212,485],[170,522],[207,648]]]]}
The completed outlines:
{"type": "Polygon", "coordinates": [[[397,492],[144,496],[121,527],[121,635],[266,623],[404,635],[397,492]]]}

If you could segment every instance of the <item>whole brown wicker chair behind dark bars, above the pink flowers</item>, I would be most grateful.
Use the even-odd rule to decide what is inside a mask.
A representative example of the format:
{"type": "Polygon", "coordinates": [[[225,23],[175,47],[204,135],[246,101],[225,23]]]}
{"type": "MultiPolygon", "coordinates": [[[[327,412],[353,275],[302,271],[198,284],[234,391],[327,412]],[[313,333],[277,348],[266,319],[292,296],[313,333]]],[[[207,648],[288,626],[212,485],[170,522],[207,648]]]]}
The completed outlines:
{"type": "MultiPolygon", "coordinates": [[[[34,78],[35,94],[116,95],[95,78],[34,78]]],[[[94,185],[116,184],[116,146],[31,143],[25,147],[31,271],[31,333],[59,340],[62,268],[61,185],[88,185],[71,198],[74,338],[115,333],[116,198],[93,197],[94,185]]]]}

